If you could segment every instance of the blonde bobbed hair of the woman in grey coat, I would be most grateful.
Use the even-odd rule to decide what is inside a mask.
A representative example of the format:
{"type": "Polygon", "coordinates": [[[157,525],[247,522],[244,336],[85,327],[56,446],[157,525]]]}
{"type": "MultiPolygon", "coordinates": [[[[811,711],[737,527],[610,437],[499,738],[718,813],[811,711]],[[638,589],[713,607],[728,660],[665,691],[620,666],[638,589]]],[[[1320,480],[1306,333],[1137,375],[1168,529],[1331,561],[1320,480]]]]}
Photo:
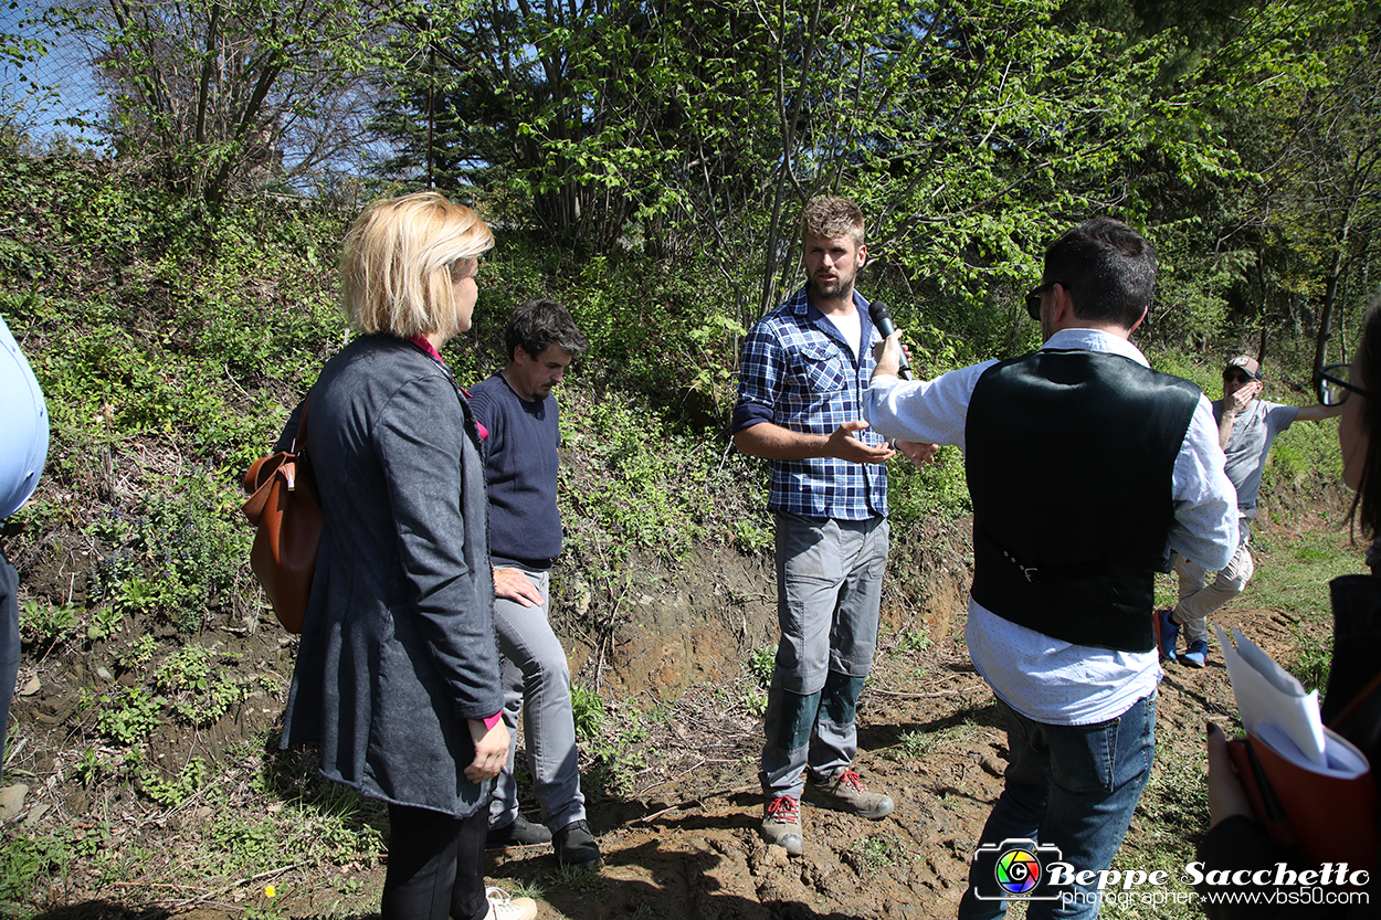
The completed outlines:
{"type": "Polygon", "coordinates": [[[453,272],[461,276],[493,246],[479,214],[438,192],[378,199],[345,235],[341,308],[367,334],[454,336],[453,272]]]}

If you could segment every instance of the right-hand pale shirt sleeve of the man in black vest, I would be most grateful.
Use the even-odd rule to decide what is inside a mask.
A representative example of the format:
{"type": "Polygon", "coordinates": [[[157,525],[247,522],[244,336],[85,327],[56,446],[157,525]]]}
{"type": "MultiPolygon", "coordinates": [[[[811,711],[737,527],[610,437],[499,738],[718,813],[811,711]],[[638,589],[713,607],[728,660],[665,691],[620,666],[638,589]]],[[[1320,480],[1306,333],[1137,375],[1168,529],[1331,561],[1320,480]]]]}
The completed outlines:
{"type": "Polygon", "coordinates": [[[1213,405],[1207,396],[1199,396],[1175,457],[1170,548],[1214,572],[1237,551],[1237,490],[1224,463],[1213,405]]]}

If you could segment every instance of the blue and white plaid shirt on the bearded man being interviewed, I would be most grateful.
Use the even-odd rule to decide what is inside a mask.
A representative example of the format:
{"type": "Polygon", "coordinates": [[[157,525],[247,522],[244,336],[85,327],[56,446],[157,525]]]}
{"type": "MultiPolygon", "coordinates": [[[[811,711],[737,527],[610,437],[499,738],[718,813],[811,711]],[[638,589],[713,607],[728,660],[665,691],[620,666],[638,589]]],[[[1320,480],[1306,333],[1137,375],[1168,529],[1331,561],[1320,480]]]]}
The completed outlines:
{"type": "MultiPolygon", "coordinates": [[[[855,291],[865,345],[855,359],[838,327],[815,308],[805,287],[764,316],[749,333],[739,372],[733,431],[769,421],[804,434],[830,435],[845,421],[863,419],[863,396],[873,376],[871,343],[878,340],[867,301],[855,291]]],[[[871,428],[856,432],[882,443],[871,428]]],[[[773,511],[837,521],[887,514],[887,468],[834,457],[771,460],[773,511]]]]}

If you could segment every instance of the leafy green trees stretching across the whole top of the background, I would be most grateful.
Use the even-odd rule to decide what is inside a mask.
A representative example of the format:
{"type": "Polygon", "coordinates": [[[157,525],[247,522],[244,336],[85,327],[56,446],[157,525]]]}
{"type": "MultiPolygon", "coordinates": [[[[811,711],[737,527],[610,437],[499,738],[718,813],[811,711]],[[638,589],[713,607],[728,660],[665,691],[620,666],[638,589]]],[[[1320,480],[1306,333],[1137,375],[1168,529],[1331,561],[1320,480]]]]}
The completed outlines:
{"type": "Polygon", "coordinates": [[[1095,213],[1163,246],[1161,344],[1323,336],[1373,261],[1374,0],[81,1],[52,21],[88,36],[110,130],[181,186],[358,152],[367,75],[389,175],[581,254],[703,257],[713,329],[798,283],[822,192],[869,215],[867,290],[956,356],[1030,344],[1018,296],[1095,213]]]}

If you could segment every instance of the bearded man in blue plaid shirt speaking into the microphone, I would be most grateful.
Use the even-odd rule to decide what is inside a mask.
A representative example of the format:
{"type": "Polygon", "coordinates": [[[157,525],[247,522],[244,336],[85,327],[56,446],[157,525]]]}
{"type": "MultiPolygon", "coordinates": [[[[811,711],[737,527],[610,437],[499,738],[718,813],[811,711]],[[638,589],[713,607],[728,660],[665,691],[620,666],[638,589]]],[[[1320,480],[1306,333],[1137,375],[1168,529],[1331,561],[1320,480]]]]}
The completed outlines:
{"type": "Polygon", "coordinates": [[[894,453],[863,421],[878,338],[853,290],[867,260],[863,213],[841,198],[813,199],[801,240],[807,285],[749,334],[733,410],[733,443],[772,470],[782,640],[760,774],[762,834],[793,855],[804,852],[807,778],[827,807],[870,819],[894,807],[852,768],[887,568],[882,464],[894,453]]]}

